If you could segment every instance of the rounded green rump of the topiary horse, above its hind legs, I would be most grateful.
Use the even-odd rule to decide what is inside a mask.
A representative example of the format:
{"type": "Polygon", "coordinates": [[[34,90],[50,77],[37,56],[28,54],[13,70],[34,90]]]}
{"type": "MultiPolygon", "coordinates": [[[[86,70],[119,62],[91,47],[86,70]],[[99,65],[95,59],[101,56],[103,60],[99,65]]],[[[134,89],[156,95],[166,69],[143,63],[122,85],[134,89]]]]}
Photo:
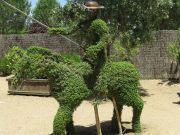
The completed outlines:
{"type": "MultiPolygon", "coordinates": [[[[118,90],[138,93],[139,72],[128,62],[107,62],[99,75],[96,91],[116,95],[118,90]],[[132,85],[129,86],[129,83],[132,85]],[[107,91],[108,90],[108,91],[107,91]],[[109,91],[110,90],[110,91],[109,91]]],[[[121,92],[121,91],[120,91],[121,92]]]]}

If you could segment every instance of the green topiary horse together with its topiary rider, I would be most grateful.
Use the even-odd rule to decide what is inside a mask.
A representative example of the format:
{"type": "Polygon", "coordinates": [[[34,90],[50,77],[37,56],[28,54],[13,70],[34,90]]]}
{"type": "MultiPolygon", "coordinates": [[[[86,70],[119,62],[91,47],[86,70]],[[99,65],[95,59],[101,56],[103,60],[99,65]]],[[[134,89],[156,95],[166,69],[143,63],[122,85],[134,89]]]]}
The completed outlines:
{"type": "MultiPolygon", "coordinates": [[[[64,73],[63,75],[59,74],[58,79],[54,81],[55,84],[57,81],[65,82],[63,86],[60,86],[62,88],[61,92],[56,93],[56,90],[53,92],[60,103],[60,108],[54,119],[54,135],[72,135],[74,131],[72,128],[72,114],[75,108],[88,97],[101,95],[106,95],[110,99],[115,98],[120,114],[123,105],[132,106],[133,129],[135,132],[141,132],[140,115],[143,109],[143,101],[138,94],[139,73],[128,62],[108,61],[107,48],[110,37],[108,35],[109,28],[104,21],[95,20],[91,25],[91,30],[100,38],[96,45],[89,46],[85,52],[84,59],[91,65],[92,74],[86,77],[84,81],[83,74],[74,73],[66,67],[66,70],[59,69],[59,73],[62,71],[64,73]],[[88,88],[93,88],[93,93],[88,88]]],[[[56,71],[57,69],[55,68],[56,71]]],[[[115,114],[113,123],[115,123],[115,114]]]]}

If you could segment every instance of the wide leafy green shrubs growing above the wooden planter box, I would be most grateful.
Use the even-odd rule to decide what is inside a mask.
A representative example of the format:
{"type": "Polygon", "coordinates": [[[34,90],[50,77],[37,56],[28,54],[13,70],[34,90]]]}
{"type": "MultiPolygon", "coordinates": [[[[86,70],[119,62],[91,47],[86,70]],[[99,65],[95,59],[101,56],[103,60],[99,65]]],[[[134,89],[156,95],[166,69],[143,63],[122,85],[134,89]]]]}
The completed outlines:
{"type": "Polygon", "coordinates": [[[49,72],[58,64],[67,65],[71,71],[79,75],[86,75],[91,71],[90,66],[82,62],[79,55],[60,55],[47,48],[31,46],[24,51],[13,67],[13,84],[17,86],[24,79],[48,79],[51,74],[49,72]]]}

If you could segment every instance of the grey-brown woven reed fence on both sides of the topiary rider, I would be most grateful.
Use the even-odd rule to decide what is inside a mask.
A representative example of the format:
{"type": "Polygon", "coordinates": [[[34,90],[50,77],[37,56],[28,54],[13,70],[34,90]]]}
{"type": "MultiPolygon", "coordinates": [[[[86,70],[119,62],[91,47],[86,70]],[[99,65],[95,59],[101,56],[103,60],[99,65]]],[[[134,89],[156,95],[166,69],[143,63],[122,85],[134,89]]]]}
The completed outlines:
{"type": "MultiPolygon", "coordinates": [[[[73,38],[74,39],[74,38],[73,38]]],[[[167,79],[172,61],[167,55],[168,43],[177,39],[177,31],[158,31],[154,38],[146,43],[134,63],[141,72],[142,79],[167,79]]],[[[14,44],[22,48],[36,44],[63,53],[82,54],[81,47],[61,36],[48,34],[0,35],[0,57],[14,44]]]]}

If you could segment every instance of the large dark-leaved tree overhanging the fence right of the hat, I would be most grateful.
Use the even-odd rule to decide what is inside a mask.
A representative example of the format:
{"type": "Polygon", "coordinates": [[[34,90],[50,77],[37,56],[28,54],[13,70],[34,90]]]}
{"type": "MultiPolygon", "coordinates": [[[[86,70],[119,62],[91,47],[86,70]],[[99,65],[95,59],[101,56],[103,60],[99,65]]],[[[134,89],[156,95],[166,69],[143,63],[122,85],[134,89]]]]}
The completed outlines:
{"type": "MultiPolygon", "coordinates": [[[[85,2],[85,0],[77,0],[85,2]]],[[[132,46],[144,42],[152,30],[157,30],[162,19],[168,17],[171,0],[97,0],[105,6],[100,17],[113,28],[112,33],[126,32],[132,46]]]]}

